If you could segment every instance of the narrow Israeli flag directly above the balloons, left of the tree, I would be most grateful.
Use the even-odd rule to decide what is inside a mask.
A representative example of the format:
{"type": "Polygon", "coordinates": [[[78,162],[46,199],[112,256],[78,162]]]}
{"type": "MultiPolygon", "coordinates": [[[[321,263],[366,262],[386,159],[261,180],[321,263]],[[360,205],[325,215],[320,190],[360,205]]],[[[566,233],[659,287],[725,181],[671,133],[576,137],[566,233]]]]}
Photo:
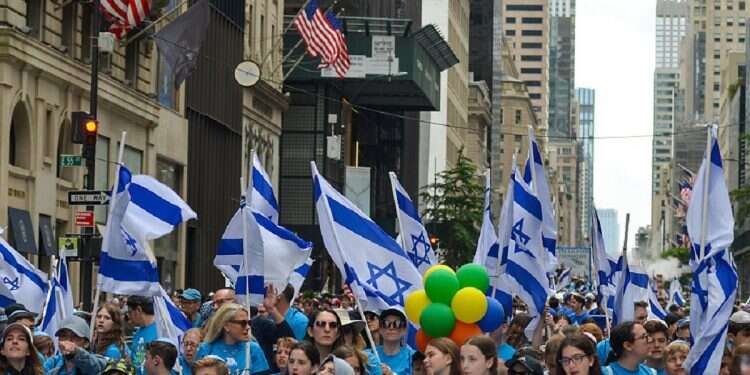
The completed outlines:
{"type": "Polygon", "coordinates": [[[437,264],[437,256],[430,244],[430,235],[422,224],[417,206],[398,182],[396,174],[389,172],[388,176],[391,178],[393,198],[396,202],[396,216],[402,246],[406,255],[414,263],[414,267],[424,274],[432,265],[437,264]]]}

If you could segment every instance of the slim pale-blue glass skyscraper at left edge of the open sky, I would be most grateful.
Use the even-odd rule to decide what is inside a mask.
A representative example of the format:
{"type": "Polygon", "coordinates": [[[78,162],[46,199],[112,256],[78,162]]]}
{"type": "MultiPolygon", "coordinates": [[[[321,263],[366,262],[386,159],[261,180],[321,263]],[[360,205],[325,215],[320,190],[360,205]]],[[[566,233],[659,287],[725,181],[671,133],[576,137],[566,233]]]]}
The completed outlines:
{"type": "Polygon", "coordinates": [[[578,206],[581,238],[591,234],[591,208],[594,203],[594,109],[596,92],[594,89],[576,89],[578,100],[580,151],[578,167],[578,206]]]}

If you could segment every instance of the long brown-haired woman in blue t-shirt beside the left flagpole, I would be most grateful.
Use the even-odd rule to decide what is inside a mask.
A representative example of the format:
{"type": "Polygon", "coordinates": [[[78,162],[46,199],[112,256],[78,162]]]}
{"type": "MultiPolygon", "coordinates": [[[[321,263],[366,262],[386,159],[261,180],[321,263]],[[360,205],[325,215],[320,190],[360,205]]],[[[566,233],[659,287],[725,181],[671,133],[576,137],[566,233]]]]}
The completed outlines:
{"type": "Polygon", "coordinates": [[[122,327],[122,312],[119,306],[106,303],[99,307],[94,328],[94,353],[115,360],[125,358],[127,350],[122,338],[122,327]]]}

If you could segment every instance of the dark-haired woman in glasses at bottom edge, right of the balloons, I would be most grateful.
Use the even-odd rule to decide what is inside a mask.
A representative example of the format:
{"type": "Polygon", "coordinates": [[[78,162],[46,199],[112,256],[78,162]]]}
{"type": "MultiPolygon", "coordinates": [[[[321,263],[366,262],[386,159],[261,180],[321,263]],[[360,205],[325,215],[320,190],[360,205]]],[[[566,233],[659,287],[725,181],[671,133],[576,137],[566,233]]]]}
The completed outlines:
{"type": "Polygon", "coordinates": [[[566,336],[557,351],[558,374],[602,375],[594,340],[589,335],[566,336]]]}

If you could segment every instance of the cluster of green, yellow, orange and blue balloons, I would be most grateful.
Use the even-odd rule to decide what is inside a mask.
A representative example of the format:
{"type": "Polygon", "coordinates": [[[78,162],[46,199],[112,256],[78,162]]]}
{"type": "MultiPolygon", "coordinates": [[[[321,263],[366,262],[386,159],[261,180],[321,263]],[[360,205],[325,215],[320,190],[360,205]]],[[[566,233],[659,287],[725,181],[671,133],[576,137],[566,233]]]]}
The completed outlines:
{"type": "Polygon", "coordinates": [[[469,263],[457,272],[446,265],[430,267],[424,274],[424,289],[409,294],[406,316],[421,328],[417,348],[424,351],[432,338],[448,337],[461,346],[471,336],[492,332],[505,321],[503,306],[487,297],[487,270],[469,263]]]}

